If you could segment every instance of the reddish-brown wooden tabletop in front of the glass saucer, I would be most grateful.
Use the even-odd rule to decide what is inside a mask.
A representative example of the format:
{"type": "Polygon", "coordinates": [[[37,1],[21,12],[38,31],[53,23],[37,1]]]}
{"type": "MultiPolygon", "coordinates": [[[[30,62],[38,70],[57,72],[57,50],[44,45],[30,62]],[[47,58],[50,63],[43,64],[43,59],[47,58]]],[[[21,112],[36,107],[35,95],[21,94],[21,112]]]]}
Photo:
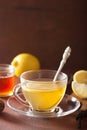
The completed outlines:
{"type": "MultiPolygon", "coordinates": [[[[77,112],[59,118],[34,118],[16,113],[7,106],[7,98],[0,98],[5,109],[0,113],[0,130],[78,130],[77,112]]],[[[81,130],[87,129],[87,118],[82,120],[81,130]]]]}

